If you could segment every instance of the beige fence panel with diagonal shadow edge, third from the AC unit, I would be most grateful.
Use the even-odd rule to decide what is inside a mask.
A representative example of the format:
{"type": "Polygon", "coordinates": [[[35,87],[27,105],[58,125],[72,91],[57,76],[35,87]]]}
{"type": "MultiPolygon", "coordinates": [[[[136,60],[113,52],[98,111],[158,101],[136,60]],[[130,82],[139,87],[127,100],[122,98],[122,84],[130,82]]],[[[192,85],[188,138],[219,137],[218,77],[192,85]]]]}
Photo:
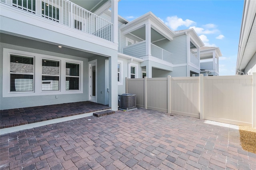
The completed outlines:
{"type": "Polygon", "coordinates": [[[199,118],[199,77],[171,78],[172,113],[199,118]]]}

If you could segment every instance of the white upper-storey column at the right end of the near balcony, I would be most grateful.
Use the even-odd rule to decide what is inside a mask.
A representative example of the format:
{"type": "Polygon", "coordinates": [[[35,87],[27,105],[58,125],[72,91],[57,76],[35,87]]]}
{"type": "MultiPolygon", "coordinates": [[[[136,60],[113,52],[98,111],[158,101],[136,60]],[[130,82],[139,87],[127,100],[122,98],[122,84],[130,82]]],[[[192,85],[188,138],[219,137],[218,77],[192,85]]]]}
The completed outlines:
{"type": "Polygon", "coordinates": [[[111,0],[112,42],[118,44],[118,0],[111,0]]]}

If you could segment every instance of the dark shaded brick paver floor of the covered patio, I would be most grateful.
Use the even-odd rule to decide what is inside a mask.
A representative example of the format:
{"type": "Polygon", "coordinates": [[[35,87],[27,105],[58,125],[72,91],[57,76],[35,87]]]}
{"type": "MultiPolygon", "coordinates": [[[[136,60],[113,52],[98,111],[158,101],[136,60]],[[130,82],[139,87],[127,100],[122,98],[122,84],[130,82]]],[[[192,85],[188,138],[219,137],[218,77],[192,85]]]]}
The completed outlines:
{"type": "Polygon", "coordinates": [[[0,110],[0,128],[16,127],[61,117],[110,109],[90,101],[0,110]]]}

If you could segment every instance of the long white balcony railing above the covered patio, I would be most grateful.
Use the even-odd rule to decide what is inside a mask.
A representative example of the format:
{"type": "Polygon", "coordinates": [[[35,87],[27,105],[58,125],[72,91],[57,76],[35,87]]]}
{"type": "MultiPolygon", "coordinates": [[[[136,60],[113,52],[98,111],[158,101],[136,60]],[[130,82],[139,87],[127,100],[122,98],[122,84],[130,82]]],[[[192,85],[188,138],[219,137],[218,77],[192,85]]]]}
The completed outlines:
{"type": "Polygon", "coordinates": [[[1,2],[42,16],[53,22],[112,41],[113,24],[111,22],[68,0],[1,0],[1,2]]]}

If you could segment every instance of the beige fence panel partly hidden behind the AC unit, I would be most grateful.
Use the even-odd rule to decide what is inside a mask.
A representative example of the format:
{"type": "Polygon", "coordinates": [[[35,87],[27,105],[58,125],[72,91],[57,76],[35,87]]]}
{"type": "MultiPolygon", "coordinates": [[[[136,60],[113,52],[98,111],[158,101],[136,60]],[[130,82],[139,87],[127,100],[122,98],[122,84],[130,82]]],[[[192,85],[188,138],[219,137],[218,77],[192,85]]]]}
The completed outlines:
{"type": "Polygon", "coordinates": [[[128,93],[136,95],[137,107],[144,107],[144,79],[128,79],[128,93]]]}

